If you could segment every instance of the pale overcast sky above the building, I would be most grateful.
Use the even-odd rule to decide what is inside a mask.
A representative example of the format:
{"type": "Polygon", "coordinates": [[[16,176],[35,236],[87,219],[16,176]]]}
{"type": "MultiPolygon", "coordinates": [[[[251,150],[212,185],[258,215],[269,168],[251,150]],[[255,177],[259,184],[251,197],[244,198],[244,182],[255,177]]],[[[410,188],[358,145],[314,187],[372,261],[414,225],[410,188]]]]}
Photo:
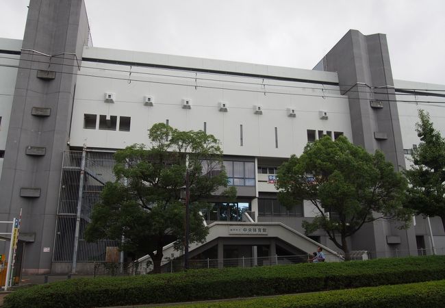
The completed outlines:
{"type": "MultiPolygon", "coordinates": [[[[85,0],[95,47],[312,69],[348,29],[387,34],[395,79],[445,84],[444,0],[85,0]]],[[[0,0],[23,38],[29,0],[0,0]]]]}

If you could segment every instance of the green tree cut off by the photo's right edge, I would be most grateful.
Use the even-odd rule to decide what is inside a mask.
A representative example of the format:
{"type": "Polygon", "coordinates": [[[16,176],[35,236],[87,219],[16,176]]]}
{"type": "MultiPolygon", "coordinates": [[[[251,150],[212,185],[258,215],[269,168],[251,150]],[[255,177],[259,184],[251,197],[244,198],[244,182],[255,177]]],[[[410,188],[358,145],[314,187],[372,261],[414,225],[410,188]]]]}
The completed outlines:
{"type": "Polygon", "coordinates": [[[439,216],[445,230],[445,140],[435,130],[428,112],[419,110],[416,123],[420,143],[413,149],[410,170],[405,175],[410,183],[407,206],[424,216],[439,216]]]}

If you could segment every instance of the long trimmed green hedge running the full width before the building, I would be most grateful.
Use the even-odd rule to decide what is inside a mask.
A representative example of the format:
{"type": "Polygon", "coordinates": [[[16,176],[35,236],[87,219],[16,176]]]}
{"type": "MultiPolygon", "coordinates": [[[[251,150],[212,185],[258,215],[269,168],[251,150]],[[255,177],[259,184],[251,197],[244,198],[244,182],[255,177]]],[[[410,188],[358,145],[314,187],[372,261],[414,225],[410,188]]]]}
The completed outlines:
{"type": "Polygon", "coordinates": [[[445,279],[445,256],[189,270],[138,277],[71,279],[17,290],[5,307],[104,307],[174,303],[445,279]]]}

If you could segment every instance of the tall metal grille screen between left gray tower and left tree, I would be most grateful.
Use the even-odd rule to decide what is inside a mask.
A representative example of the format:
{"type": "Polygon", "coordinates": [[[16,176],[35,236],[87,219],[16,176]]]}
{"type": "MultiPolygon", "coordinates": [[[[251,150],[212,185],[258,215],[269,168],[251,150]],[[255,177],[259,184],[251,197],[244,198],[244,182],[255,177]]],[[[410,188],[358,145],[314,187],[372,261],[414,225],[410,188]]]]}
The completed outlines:
{"type": "Polygon", "coordinates": [[[110,152],[64,152],[53,261],[73,261],[75,249],[77,262],[105,261],[107,248],[118,246],[118,242],[111,240],[94,243],[84,240],[91,211],[99,201],[103,186],[115,180],[114,164],[114,153],[110,152]],[[76,224],[77,218],[79,224],[76,224]]]}

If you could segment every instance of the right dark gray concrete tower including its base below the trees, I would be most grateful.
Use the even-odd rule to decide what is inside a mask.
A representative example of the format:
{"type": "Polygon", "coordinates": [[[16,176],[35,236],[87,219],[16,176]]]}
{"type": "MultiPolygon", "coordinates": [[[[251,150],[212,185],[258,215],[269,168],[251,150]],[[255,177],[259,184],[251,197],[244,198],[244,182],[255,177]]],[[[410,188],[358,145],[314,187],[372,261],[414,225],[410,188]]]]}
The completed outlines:
{"type": "MultiPolygon", "coordinates": [[[[353,142],[374,153],[380,149],[396,170],[405,168],[390,53],[384,34],[364,36],[350,30],[314,68],[338,73],[342,94],[348,96],[353,142]],[[383,108],[372,108],[380,100],[383,108]],[[375,133],[387,139],[374,138],[375,133]]],[[[414,229],[397,229],[397,222],[377,221],[353,236],[353,249],[380,251],[416,250],[414,229]],[[401,244],[387,244],[386,235],[400,236],[401,244]]]]}

